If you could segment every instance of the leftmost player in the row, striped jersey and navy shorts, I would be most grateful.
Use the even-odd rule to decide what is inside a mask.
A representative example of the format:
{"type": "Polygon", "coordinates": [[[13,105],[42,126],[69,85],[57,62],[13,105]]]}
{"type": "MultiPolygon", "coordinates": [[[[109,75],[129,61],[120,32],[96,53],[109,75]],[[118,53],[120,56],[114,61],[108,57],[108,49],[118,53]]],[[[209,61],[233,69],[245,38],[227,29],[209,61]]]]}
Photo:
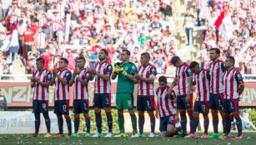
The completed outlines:
{"type": "Polygon", "coordinates": [[[48,100],[49,100],[49,83],[52,79],[52,74],[50,71],[45,69],[43,58],[38,58],[37,69],[33,72],[33,77],[31,79],[31,87],[34,88],[33,91],[33,113],[35,116],[35,133],[33,137],[39,137],[39,127],[40,127],[40,113],[43,114],[47,132],[44,137],[51,137],[50,128],[51,121],[48,115],[48,100]]]}

